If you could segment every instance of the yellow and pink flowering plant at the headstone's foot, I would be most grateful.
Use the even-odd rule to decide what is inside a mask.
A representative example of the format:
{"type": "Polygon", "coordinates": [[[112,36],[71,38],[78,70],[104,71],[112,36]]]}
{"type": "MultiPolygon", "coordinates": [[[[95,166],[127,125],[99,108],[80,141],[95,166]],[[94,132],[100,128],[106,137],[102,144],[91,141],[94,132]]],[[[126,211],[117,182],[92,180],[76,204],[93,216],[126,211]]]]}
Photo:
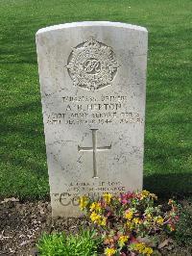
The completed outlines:
{"type": "Polygon", "coordinates": [[[148,191],[104,193],[98,200],[82,196],[80,208],[102,233],[105,255],[150,256],[152,238],[161,231],[173,232],[179,219],[174,200],[169,200],[167,212],[156,200],[156,194],[148,191]]]}

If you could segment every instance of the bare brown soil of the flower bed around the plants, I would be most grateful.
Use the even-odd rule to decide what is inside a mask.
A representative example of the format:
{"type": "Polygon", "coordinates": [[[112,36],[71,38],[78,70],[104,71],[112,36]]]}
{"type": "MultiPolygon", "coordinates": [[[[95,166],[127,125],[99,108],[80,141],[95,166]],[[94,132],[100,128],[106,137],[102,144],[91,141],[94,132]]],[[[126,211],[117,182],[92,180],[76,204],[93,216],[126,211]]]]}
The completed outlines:
{"type": "MultiPolygon", "coordinates": [[[[50,202],[19,202],[6,198],[0,202],[0,256],[35,256],[36,242],[43,232],[77,232],[84,218],[51,218],[50,202]]],[[[182,248],[165,239],[159,255],[192,255],[192,248],[182,248]]]]}

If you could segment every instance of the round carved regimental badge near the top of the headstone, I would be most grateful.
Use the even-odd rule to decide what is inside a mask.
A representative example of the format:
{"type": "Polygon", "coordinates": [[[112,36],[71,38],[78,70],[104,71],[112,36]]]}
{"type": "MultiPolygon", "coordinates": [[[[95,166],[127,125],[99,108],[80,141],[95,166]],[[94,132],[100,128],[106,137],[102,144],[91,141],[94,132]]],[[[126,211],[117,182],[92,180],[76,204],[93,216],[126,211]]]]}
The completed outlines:
{"type": "Polygon", "coordinates": [[[112,85],[118,66],[112,48],[91,38],[73,48],[66,68],[74,86],[95,91],[112,85]]]}

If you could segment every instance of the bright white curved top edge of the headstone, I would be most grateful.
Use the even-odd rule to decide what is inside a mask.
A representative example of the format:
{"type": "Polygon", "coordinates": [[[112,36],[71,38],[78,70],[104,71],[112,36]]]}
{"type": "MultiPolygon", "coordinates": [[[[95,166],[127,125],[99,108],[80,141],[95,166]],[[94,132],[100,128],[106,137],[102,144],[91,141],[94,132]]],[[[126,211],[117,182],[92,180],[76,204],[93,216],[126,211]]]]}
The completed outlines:
{"type": "Polygon", "coordinates": [[[64,23],[59,25],[54,25],[50,27],[41,28],[36,32],[36,36],[50,31],[56,31],[60,29],[74,28],[74,27],[117,27],[117,28],[127,28],[136,31],[143,31],[148,33],[145,27],[140,27],[132,24],[122,23],[122,22],[111,22],[111,21],[82,21],[82,22],[72,22],[64,23]]]}

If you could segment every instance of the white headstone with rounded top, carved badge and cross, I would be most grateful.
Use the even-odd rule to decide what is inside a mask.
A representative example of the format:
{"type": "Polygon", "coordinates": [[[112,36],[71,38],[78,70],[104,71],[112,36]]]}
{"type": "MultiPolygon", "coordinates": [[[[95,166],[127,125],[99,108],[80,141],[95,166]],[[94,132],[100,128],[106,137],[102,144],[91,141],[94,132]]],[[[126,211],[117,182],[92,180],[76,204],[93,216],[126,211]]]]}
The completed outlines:
{"type": "Polygon", "coordinates": [[[142,189],[145,28],[78,22],[36,33],[53,216],[78,196],[142,189]]]}

